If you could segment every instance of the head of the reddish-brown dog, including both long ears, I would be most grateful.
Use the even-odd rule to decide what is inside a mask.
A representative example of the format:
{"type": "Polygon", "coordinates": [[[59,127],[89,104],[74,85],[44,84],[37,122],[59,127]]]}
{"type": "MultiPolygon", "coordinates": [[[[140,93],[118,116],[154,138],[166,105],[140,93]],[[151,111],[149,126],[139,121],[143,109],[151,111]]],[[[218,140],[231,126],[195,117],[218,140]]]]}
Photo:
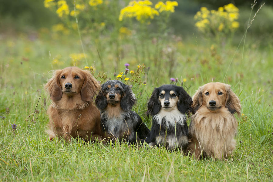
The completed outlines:
{"type": "Polygon", "coordinates": [[[80,93],[83,101],[89,102],[100,89],[100,84],[87,70],[67,67],[56,70],[45,84],[45,89],[53,101],[60,100],[65,94],[69,97],[80,93]]]}

